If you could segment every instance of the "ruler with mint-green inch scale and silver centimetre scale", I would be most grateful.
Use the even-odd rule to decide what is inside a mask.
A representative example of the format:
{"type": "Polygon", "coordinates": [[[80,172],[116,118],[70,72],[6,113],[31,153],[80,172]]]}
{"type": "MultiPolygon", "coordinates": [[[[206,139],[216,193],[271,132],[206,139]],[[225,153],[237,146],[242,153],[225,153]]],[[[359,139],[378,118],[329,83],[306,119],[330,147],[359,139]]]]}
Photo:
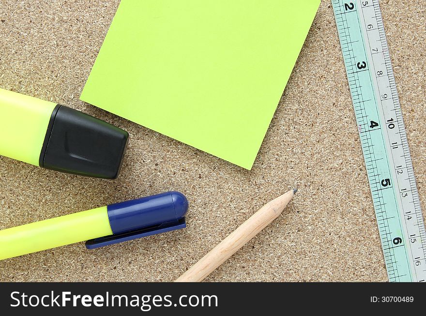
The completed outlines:
{"type": "Polygon", "coordinates": [[[332,0],[391,282],[425,282],[426,231],[378,0],[332,0]]]}

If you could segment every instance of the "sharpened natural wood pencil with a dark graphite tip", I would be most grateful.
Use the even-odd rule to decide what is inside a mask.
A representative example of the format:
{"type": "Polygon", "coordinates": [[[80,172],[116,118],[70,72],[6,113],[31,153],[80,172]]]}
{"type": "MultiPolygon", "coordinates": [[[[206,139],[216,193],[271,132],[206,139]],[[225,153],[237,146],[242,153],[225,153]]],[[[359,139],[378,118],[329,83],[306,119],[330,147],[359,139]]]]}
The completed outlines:
{"type": "Polygon", "coordinates": [[[248,241],[255,237],[263,228],[268,226],[286,208],[287,204],[297,192],[291,190],[265,204],[241,226],[214,247],[207,255],[183,273],[175,282],[200,282],[225,260],[235,254],[248,241]]]}

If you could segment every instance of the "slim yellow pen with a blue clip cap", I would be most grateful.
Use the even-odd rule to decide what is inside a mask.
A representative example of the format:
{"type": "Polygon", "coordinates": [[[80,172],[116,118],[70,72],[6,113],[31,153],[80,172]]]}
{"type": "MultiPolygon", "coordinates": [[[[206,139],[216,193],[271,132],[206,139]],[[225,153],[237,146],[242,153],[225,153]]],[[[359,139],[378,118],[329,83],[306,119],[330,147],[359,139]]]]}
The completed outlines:
{"type": "Polygon", "coordinates": [[[0,260],[86,241],[94,249],[186,227],[188,200],[167,192],[0,230],[0,260]]]}

